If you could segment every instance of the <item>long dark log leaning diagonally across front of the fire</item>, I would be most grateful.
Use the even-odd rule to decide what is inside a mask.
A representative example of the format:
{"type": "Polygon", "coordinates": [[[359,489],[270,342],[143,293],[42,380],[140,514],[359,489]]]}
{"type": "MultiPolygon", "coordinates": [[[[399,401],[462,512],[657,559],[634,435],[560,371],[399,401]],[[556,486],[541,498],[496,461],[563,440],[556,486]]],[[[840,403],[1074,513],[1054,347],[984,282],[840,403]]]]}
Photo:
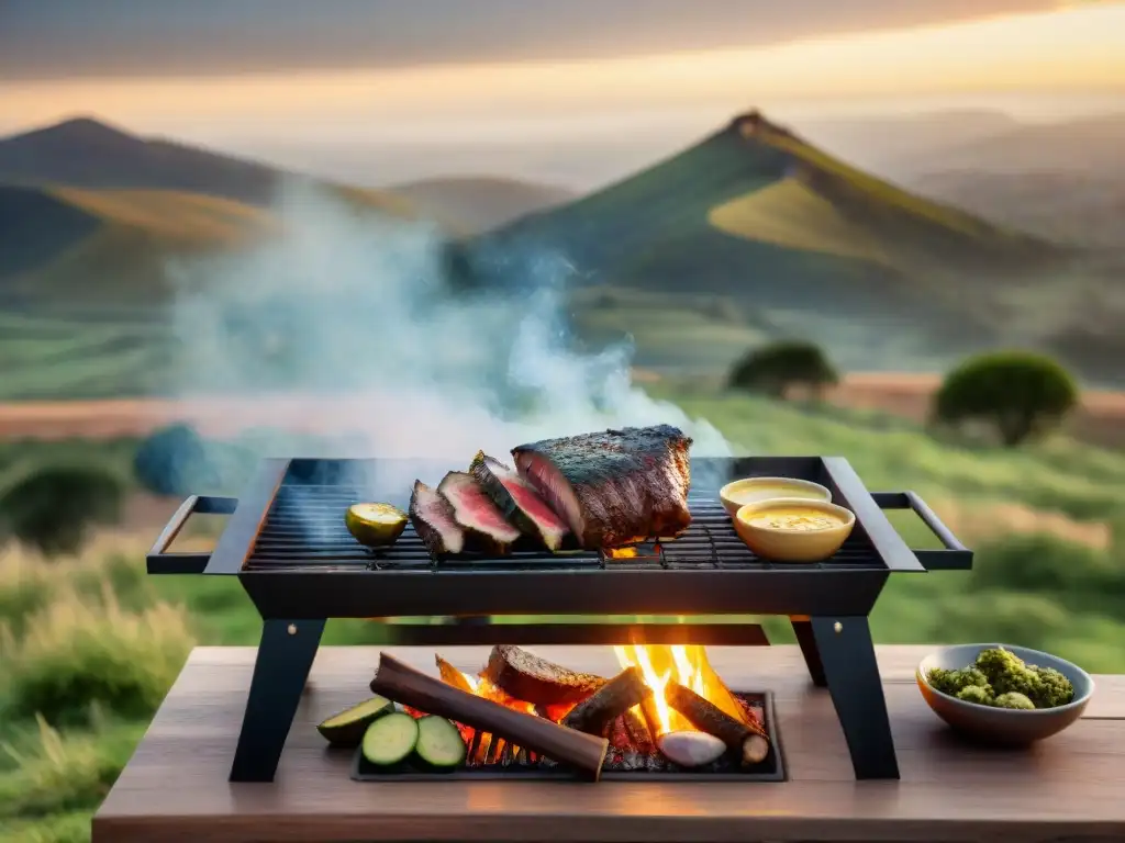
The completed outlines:
{"type": "Polygon", "coordinates": [[[602,774],[609,750],[609,741],[604,737],[505,708],[429,677],[386,653],[379,654],[379,668],[371,680],[371,690],[402,705],[487,732],[494,740],[503,735],[511,743],[573,767],[594,781],[602,774]]]}

